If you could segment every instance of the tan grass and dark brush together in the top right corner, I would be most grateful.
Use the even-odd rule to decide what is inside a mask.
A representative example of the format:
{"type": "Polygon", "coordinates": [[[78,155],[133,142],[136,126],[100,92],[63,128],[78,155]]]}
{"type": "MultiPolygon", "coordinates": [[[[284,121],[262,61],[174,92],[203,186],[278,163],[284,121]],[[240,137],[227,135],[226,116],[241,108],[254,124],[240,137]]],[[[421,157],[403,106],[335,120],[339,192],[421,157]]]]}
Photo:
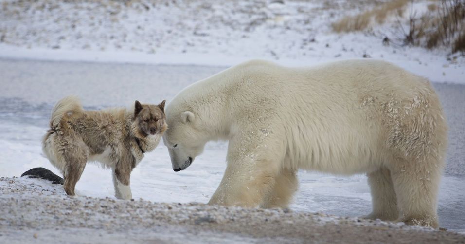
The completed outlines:
{"type": "Polygon", "coordinates": [[[405,6],[411,0],[393,0],[378,8],[356,16],[348,16],[332,24],[336,32],[363,31],[375,24],[383,24],[389,15],[396,15],[393,38],[399,45],[423,46],[428,49],[448,47],[455,52],[465,53],[465,0],[439,0],[428,4],[428,11],[421,16],[416,12],[409,15],[407,25],[400,20],[405,6]]]}

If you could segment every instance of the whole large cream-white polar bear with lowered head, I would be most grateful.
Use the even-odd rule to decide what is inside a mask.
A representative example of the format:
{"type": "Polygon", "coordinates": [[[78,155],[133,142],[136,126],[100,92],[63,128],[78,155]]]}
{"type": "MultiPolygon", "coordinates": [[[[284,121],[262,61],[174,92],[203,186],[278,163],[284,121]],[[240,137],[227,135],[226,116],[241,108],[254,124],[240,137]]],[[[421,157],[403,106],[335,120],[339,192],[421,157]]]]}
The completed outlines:
{"type": "Polygon", "coordinates": [[[174,171],[211,140],[227,167],[209,204],[286,207],[298,169],[366,173],[367,218],[438,227],[447,124],[430,83],[391,63],[345,60],[309,68],[249,61],[193,83],[166,109],[174,171]]]}

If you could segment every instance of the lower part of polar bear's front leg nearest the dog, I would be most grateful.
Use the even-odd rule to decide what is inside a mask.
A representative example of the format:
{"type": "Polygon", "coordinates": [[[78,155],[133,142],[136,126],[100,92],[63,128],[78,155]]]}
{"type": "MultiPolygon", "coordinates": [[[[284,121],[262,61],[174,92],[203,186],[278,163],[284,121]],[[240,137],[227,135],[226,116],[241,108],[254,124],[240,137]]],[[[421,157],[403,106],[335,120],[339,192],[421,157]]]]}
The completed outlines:
{"type": "Polygon", "coordinates": [[[278,173],[271,160],[234,160],[228,162],[210,205],[256,207],[272,190],[278,173]]]}

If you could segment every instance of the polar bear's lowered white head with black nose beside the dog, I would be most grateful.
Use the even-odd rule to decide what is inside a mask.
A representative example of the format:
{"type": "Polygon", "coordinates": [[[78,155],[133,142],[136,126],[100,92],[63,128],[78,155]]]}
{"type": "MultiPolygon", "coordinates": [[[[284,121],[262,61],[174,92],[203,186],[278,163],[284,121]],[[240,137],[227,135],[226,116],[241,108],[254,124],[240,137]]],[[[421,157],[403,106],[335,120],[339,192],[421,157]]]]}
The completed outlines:
{"type": "Polygon", "coordinates": [[[189,167],[203,152],[208,139],[195,112],[170,107],[166,111],[168,129],[163,135],[163,143],[168,147],[173,170],[178,172],[189,167]]]}

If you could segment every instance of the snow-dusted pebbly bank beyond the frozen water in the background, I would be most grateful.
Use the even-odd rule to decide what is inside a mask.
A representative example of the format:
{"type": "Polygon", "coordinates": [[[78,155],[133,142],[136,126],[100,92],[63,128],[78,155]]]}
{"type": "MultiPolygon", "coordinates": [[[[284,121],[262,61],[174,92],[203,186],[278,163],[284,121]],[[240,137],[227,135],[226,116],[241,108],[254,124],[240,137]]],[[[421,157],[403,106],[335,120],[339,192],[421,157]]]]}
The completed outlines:
{"type": "Polygon", "coordinates": [[[429,0],[415,0],[404,17],[372,31],[331,31],[332,22],[384,1],[0,0],[0,57],[224,66],[250,58],[303,66],[366,57],[436,82],[465,83],[464,56],[402,47],[402,33],[391,28],[429,0]]]}

